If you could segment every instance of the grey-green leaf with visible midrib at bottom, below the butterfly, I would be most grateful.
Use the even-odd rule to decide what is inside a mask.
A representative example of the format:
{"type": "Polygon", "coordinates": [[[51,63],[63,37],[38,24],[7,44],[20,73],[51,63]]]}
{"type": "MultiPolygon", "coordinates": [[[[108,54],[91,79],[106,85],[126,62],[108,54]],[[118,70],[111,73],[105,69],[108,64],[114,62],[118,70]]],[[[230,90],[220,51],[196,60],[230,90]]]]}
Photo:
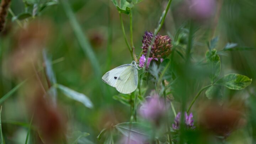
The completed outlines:
{"type": "Polygon", "coordinates": [[[125,122],[114,126],[119,132],[130,139],[137,140],[138,137],[146,140],[152,135],[152,129],[149,124],[139,122],[125,122]]]}

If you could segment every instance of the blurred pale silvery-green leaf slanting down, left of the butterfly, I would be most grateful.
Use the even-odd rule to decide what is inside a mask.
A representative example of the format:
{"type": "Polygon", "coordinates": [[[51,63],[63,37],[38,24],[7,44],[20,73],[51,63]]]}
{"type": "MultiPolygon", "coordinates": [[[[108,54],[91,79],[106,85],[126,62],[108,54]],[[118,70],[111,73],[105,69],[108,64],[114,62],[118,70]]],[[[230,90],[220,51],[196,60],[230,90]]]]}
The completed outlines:
{"type": "Polygon", "coordinates": [[[81,102],[82,104],[84,104],[84,106],[86,106],[88,108],[93,107],[93,104],[90,101],[90,99],[87,96],[85,96],[84,94],[81,94],[79,92],[71,90],[68,87],[60,85],[60,84],[57,84],[57,87],[63,92],[63,94],[65,94],[69,98],[72,98],[75,101],[81,102]]]}

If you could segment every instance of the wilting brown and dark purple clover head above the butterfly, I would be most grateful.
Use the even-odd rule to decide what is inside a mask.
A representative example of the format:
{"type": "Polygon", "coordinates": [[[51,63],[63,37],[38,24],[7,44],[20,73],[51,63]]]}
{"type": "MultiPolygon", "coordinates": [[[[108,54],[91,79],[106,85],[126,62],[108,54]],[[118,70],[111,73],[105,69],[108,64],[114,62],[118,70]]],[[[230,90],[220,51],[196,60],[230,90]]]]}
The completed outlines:
{"type": "MultiPolygon", "coordinates": [[[[142,39],[142,52],[147,55],[149,46],[153,40],[153,33],[145,32],[142,39]]],[[[169,36],[161,36],[157,34],[151,46],[149,58],[166,58],[171,54],[171,38],[169,36]]]]}

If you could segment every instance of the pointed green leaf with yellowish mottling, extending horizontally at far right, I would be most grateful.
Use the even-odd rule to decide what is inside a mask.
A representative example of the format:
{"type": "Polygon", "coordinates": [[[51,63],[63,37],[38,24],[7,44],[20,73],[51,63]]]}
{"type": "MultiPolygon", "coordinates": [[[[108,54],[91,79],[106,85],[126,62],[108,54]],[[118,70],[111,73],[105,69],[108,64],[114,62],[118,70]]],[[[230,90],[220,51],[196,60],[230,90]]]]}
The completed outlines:
{"type": "Polygon", "coordinates": [[[249,86],[252,79],[240,74],[227,74],[217,81],[217,84],[227,87],[231,90],[242,90],[249,86]]]}

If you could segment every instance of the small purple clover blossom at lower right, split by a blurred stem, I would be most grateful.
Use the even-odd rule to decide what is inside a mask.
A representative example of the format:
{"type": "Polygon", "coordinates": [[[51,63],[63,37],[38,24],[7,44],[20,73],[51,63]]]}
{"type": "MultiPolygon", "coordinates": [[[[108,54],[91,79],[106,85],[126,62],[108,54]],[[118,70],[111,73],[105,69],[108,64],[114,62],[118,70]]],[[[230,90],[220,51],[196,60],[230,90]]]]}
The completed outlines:
{"type": "MultiPolygon", "coordinates": [[[[180,128],[180,121],[181,121],[181,113],[179,112],[174,119],[174,124],[172,124],[172,129],[178,130],[180,128]]],[[[188,129],[195,128],[192,113],[190,113],[189,115],[187,115],[187,113],[185,113],[185,124],[186,124],[186,128],[188,128],[188,129]]]]}

